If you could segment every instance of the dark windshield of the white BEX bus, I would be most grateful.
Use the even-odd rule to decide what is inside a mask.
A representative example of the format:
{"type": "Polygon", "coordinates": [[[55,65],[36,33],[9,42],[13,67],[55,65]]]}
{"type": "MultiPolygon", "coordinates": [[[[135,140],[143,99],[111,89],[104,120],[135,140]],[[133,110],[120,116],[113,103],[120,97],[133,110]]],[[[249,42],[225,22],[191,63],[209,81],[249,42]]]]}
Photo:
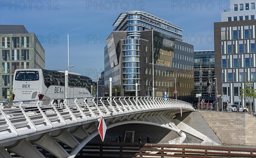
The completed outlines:
{"type": "Polygon", "coordinates": [[[38,71],[17,71],[15,76],[16,81],[38,81],[38,71]]]}

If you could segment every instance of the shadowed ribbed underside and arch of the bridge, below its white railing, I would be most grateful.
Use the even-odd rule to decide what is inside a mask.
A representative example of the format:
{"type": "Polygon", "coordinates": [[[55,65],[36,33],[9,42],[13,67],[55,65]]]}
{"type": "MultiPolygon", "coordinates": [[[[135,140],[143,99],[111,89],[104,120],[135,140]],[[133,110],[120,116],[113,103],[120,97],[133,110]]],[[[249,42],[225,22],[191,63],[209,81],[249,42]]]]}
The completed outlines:
{"type": "MultiPolygon", "coordinates": [[[[175,131],[180,137],[176,138],[175,144],[182,144],[186,135],[173,123],[172,119],[178,110],[157,111],[149,113],[137,113],[127,116],[119,116],[115,118],[105,119],[107,128],[116,127],[123,124],[149,124],[163,127],[175,131]]],[[[73,127],[53,130],[47,133],[27,136],[19,140],[9,141],[1,144],[1,158],[11,158],[9,152],[13,152],[21,157],[42,157],[44,155],[37,150],[36,146],[41,147],[57,157],[67,158],[75,157],[77,153],[93,139],[98,132],[99,122],[91,122],[88,124],[80,124],[73,127]],[[79,141],[80,140],[80,141],[79,141]],[[72,148],[72,151],[66,151],[58,142],[62,142],[72,148]],[[9,150],[8,151],[6,151],[9,150]]],[[[172,144],[172,140],[169,141],[172,144]]]]}

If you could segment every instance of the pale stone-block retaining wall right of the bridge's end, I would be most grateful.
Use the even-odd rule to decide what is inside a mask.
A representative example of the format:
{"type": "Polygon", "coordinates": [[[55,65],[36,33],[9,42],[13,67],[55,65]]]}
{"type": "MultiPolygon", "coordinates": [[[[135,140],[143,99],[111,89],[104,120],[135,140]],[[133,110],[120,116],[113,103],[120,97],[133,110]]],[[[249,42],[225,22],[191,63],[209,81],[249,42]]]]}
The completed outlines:
{"type": "Polygon", "coordinates": [[[198,112],[223,144],[256,145],[256,117],[248,113],[198,112]]]}

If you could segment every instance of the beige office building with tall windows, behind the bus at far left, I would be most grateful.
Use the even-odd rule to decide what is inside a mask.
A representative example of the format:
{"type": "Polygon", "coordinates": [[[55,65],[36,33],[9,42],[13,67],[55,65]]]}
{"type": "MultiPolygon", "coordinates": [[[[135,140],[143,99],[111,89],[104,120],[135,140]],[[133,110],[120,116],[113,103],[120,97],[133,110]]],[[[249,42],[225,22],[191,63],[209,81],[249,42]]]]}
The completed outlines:
{"type": "Polygon", "coordinates": [[[12,98],[14,71],[19,68],[44,68],[44,48],[23,25],[0,25],[0,101],[12,98]]]}

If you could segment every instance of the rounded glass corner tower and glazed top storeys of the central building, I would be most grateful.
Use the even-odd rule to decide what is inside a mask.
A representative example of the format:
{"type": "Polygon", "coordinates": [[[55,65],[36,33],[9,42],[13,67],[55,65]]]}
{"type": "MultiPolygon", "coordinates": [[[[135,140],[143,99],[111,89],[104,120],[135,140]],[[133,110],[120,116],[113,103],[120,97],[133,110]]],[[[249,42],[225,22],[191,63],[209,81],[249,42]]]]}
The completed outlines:
{"type": "Polygon", "coordinates": [[[140,32],[157,30],[182,40],[182,29],[143,11],[128,11],[117,18],[114,31],[127,31],[123,41],[123,88],[134,91],[138,83],[140,90],[140,32]]]}

